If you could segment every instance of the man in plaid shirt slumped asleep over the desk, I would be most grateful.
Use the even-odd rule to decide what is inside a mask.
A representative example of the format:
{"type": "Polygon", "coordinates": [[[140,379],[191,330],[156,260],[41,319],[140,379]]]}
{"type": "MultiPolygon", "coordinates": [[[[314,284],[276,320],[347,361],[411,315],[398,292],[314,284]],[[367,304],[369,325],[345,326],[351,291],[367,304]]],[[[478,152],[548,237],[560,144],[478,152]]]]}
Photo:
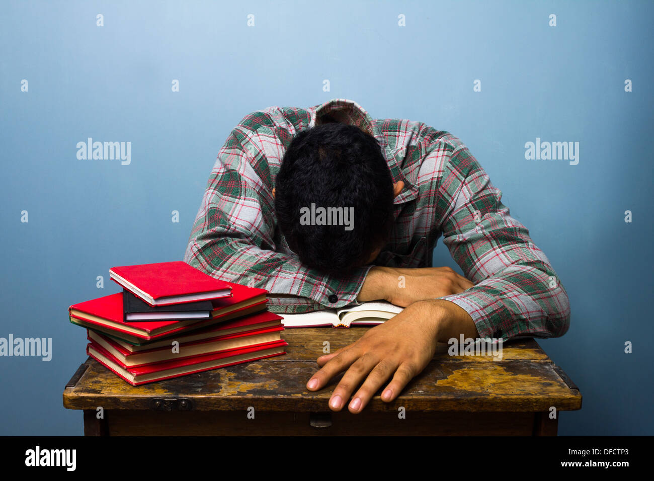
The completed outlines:
{"type": "Polygon", "coordinates": [[[383,401],[396,399],[438,342],[568,330],[568,294],[501,198],[448,132],[373,120],[347,99],[268,107],[218,152],[184,260],[267,289],[271,312],[404,307],[319,357],[307,380],[317,391],[345,372],[329,406],[356,414],[382,388],[383,401]],[[431,266],[441,237],[464,276],[431,266]]]}

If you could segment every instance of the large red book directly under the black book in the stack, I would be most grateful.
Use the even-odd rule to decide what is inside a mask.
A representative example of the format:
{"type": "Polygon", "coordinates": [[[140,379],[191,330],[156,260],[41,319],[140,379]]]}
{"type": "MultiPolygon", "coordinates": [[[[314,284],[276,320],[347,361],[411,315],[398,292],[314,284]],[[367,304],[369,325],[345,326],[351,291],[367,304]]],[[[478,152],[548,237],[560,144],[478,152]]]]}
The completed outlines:
{"type": "Polygon", "coordinates": [[[69,307],[69,317],[73,324],[99,330],[133,344],[143,344],[177,332],[200,329],[266,309],[265,289],[227,284],[232,288],[232,297],[212,300],[214,310],[211,312],[210,319],[126,323],[123,315],[122,293],[73,304],[69,307]]]}

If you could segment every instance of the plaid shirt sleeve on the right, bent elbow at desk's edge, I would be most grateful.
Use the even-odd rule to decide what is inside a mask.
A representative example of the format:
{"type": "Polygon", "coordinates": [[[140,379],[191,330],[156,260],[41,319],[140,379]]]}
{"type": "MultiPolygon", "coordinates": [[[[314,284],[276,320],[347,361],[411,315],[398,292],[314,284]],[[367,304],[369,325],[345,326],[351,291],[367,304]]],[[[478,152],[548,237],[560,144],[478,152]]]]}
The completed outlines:
{"type": "Polygon", "coordinates": [[[450,200],[439,227],[443,243],[475,283],[440,299],[466,310],[481,338],[565,334],[570,304],[559,277],[464,145],[452,152],[439,190],[450,200]]]}

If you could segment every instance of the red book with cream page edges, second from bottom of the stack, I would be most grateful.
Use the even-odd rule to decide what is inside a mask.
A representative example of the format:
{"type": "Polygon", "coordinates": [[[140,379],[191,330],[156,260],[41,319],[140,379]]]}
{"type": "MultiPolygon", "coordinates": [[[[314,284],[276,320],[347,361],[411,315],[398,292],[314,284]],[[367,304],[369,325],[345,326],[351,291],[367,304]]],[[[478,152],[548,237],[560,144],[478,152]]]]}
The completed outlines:
{"type": "Polygon", "coordinates": [[[128,351],[128,349],[120,346],[120,344],[112,340],[109,336],[103,336],[103,334],[92,330],[88,330],[87,338],[108,351],[118,360],[120,365],[126,368],[133,368],[212,353],[236,351],[245,347],[277,345],[281,340],[279,334],[282,330],[284,328],[280,324],[277,327],[269,327],[268,329],[256,330],[254,332],[239,332],[238,334],[229,334],[219,338],[179,344],[175,347],[173,347],[173,341],[171,341],[165,347],[157,347],[139,352],[128,351]]]}

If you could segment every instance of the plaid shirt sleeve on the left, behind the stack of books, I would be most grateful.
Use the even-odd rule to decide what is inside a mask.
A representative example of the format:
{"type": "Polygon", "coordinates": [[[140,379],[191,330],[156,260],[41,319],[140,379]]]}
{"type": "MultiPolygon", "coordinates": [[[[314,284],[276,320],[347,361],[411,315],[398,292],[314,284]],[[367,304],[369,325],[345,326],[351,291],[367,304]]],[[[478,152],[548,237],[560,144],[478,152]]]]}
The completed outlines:
{"type": "Polygon", "coordinates": [[[288,246],[279,248],[277,243],[285,241],[275,238],[269,168],[262,152],[243,140],[243,131],[236,128],[218,153],[184,261],[216,279],[267,289],[271,312],[356,303],[371,266],[347,277],[326,276],[301,264],[288,246]]]}

